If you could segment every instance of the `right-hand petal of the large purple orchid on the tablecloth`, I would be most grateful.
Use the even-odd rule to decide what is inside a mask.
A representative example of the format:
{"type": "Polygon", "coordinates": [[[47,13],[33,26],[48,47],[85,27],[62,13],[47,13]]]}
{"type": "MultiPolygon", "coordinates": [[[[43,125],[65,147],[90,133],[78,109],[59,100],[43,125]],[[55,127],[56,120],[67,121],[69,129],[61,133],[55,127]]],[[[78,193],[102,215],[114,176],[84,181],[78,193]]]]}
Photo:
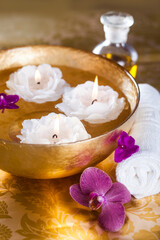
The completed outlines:
{"type": "Polygon", "coordinates": [[[131,194],[128,189],[119,182],[113,183],[110,190],[105,195],[107,202],[127,203],[131,200],[131,194]]]}

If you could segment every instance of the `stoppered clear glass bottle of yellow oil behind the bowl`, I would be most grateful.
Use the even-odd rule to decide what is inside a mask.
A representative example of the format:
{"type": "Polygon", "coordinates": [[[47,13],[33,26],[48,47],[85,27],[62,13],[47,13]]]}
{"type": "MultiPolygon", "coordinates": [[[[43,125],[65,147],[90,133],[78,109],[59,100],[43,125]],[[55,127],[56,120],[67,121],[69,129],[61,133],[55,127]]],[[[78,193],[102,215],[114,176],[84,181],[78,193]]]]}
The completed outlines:
{"type": "Polygon", "coordinates": [[[138,54],[126,43],[128,32],[134,23],[133,17],[122,12],[107,12],[101,16],[100,21],[104,27],[105,40],[93,49],[93,53],[114,60],[136,77],[138,54]]]}

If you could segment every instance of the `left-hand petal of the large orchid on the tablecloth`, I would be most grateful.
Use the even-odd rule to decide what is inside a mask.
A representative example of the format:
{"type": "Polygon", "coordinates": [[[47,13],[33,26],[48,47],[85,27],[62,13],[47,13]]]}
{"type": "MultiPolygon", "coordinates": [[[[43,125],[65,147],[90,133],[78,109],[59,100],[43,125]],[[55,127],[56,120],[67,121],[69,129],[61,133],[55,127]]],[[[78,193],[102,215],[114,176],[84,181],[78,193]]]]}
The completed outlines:
{"type": "Polygon", "coordinates": [[[89,195],[82,193],[79,184],[74,184],[70,187],[70,195],[79,204],[89,207],[89,195]]]}

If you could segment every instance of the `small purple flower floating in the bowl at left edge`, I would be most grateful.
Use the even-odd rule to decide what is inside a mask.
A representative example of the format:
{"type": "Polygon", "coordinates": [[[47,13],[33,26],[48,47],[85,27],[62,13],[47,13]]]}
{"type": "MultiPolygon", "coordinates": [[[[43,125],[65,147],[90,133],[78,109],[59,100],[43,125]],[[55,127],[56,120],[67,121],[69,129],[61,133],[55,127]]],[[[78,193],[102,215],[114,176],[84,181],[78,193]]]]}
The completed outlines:
{"type": "Polygon", "coordinates": [[[17,109],[19,108],[15,103],[18,102],[18,95],[6,95],[5,93],[0,93],[0,109],[4,113],[5,109],[17,109]]]}

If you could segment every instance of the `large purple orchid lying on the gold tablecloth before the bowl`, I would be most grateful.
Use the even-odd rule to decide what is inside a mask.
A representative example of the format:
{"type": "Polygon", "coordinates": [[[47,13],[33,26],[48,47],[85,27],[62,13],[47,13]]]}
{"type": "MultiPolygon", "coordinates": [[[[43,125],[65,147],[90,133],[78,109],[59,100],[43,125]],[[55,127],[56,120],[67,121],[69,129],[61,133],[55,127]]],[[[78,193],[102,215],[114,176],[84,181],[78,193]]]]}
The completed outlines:
{"type": "Polygon", "coordinates": [[[116,232],[124,224],[124,203],[131,199],[127,188],[119,183],[112,183],[110,177],[102,170],[89,167],[83,171],[80,184],[70,187],[71,197],[91,210],[101,207],[98,221],[102,228],[116,232]]]}

